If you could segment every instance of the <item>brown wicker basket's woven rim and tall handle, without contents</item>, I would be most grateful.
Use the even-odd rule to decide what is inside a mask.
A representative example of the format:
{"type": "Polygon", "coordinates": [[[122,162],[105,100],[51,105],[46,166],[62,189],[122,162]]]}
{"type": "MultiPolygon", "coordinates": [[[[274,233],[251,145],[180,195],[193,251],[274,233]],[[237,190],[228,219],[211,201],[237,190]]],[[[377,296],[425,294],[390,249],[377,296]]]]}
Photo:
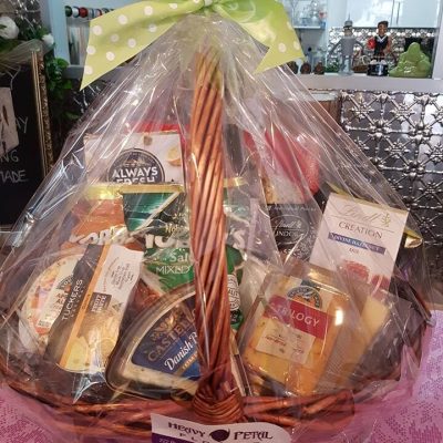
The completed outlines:
{"type": "MultiPolygon", "coordinates": [[[[225,257],[224,171],[222,145],[223,79],[216,52],[200,55],[192,110],[187,192],[190,202],[190,238],[195,256],[196,329],[202,377],[193,400],[143,400],[122,395],[116,401],[94,404],[50,393],[51,381],[34,381],[23,362],[2,354],[0,369],[7,383],[21,394],[51,408],[54,425],[81,435],[146,439],[151,414],[188,418],[203,423],[227,424],[265,421],[288,429],[333,434],[353,419],[356,403],[365,401],[363,383],[358,391],[341,390],[330,395],[241,396],[230,368],[230,324],[225,257]],[[210,350],[206,351],[205,350],[210,350]]],[[[424,306],[424,305],[423,305],[424,306]]],[[[423,306],[418,309],[424,309],[423,306]]],[[[421,358],[426,322],[411,342],[421,358]]],[[[51,373],[52,369],[41,368],[51,373]]],[[[398,379],[399,362],[385,379],[398,379]]],[[[372,380],[368,379],[370,383],[372,380]]]]}

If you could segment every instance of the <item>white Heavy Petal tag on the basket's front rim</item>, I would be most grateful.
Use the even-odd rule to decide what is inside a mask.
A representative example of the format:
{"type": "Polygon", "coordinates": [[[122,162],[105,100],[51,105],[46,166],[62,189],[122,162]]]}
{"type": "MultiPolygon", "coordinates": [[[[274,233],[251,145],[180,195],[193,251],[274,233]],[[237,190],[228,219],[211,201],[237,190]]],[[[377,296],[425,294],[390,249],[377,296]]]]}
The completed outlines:
{"type": "Polygon", "coordinates": [[[151,414],[152,443],[290,443],[284,429],[269,423],[204,425],[151,414]]]}

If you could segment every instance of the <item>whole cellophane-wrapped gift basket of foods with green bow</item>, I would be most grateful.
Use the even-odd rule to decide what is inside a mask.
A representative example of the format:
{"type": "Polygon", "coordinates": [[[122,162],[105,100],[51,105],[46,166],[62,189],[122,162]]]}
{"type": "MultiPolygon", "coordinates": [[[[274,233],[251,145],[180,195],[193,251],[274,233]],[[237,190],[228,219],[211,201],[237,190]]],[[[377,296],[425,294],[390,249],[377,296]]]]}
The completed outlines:
{"type": "Polygon", "coordinates": [[[280,6],[190,3],[92,23],[86,78],[158,35],[18,222],[3,383],[63,441],[362,435],[425,358],[422,237],[288,69],[255,72],[299,48],[280,6]]]}

